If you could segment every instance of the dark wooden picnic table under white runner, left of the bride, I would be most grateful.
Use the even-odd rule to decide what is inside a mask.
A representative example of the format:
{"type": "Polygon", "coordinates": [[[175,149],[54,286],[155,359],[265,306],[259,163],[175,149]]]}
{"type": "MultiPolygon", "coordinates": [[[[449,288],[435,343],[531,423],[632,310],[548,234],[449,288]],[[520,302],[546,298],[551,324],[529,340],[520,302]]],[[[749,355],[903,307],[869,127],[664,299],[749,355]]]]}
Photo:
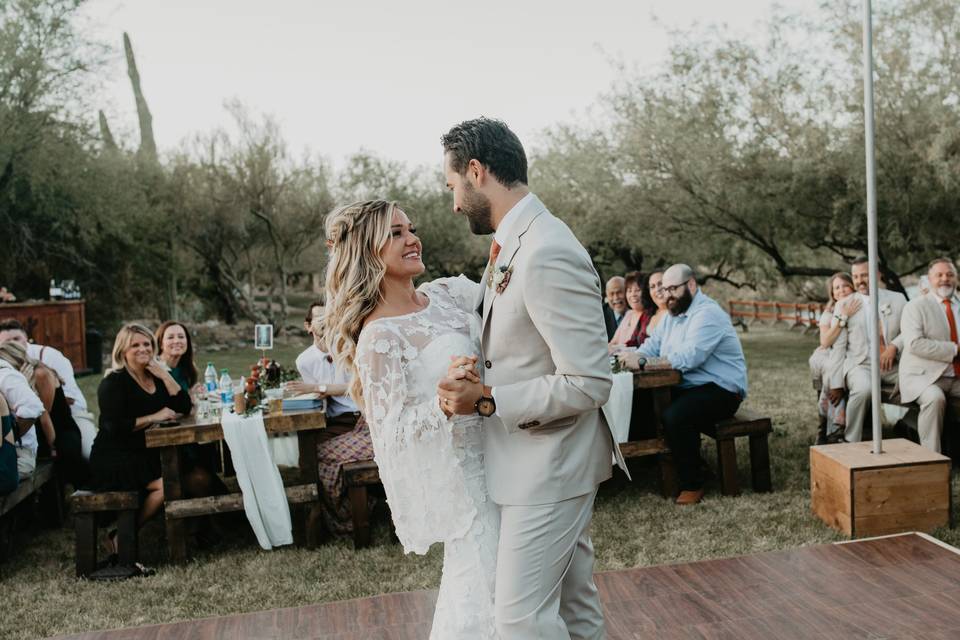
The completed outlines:
{"type": "MultiPolygon", "coordinates": [[[[305,542],[315,546],[319,537],[320,505],[323,489],[317,473],[317,435],[326,428],[326,416],[316,409],[284,411],[263,416],[268,434],[296,433],[300,446],[297,484],[285,486],[291,505],[305,505],[305,542]]],[[[180,447],[223,440],[219,418],[198,422],[193,417],[180,420],[179,425],[149,427],[145,434],[148,449],[159,449],[163,474],[163,505],[167,527],[167,544],[171,562],[183,562],[187,557],[185,519],[197,516],[243,510],[243,495],[239,492],[203,498],[183,497],[183,473],[180,447]]]]}

